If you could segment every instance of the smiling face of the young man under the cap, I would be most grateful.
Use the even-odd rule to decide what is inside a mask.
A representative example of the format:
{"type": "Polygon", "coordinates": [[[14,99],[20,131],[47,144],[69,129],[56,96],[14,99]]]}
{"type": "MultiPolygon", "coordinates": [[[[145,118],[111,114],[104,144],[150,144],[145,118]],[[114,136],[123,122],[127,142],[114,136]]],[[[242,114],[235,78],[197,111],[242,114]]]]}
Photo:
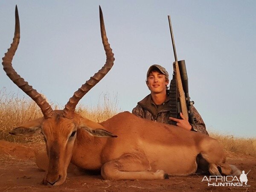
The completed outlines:
{"type": "Polygon", "coordinates": [[[151,90],[151,93],[165,93],[168,83],[169,81],[166,81],[163,73],[151,71],[148,75],[147,86],[151,90]]]}

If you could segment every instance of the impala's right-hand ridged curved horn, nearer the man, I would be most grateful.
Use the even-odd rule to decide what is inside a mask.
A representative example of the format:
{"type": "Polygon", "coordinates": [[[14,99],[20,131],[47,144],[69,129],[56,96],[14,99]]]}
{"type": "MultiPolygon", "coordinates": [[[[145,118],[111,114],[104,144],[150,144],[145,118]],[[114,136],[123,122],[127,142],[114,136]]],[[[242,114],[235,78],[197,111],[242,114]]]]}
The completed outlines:
{"type": "Polygon", "coordinates": [[[69,99],[67,104],[65,105],[64,111],[63,111],[63,116],[72,119],[76,105],[78,104],[79,100],[91,89],[93,88],[108,72],[111,70],[111,67],[114,64],[114,54],[112,52],[112,49],[110,47],[110,44],[108,43],[108,38],[106,35],[105,31],[105,25],[104,25],[104,20],[103,20],[103,15],[102,15],[102,9],[99,6],[99,18],[100,18],[100,32],[102,36],[102,43],[103,47],[105,49],[106,53],[106,63],[105,65],[92,76],[88,81],[83,84],[79,90],[77,90],[74,95],[69,99]]]}

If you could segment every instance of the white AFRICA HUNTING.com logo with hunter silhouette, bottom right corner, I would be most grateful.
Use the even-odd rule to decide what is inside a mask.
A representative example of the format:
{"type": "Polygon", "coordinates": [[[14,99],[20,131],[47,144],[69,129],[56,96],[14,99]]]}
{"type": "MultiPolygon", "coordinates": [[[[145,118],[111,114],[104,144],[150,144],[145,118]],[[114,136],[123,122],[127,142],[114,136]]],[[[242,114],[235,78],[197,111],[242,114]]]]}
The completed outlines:
{"type": "MultiPolygon", "coordinates": [[[[247,174],[250,171],[247,172],[247,174]]],[[[203,181],[208,182],[208,186],[239,186],[239,187],[250,187],[247,185],[247,174],[242,171],[240,176],[204,176],[203,181]]]]}

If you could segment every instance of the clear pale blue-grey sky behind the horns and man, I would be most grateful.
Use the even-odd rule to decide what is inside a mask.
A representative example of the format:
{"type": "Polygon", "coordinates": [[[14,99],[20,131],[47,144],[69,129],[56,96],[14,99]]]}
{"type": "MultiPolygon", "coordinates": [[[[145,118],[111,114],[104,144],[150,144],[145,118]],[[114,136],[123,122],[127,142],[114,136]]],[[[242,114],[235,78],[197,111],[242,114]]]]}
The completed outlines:
{"type": "MultiPolygon", "coordinates": [[[[21,38],[13,67],[50,102],[64,106],[105,64],[100,5],[116,60],[79,104],[97,105],[109,93],[131,112],[149,94],[150,65],[172,74],[171,15],[177,58],[186,61],[189,95],[207,129],[256,137],[255,0],[1,0],[2,57],[12,43],[16,4],[21,38]]],[[[3,87],[23,95],[0,70],[3,87]]]]}

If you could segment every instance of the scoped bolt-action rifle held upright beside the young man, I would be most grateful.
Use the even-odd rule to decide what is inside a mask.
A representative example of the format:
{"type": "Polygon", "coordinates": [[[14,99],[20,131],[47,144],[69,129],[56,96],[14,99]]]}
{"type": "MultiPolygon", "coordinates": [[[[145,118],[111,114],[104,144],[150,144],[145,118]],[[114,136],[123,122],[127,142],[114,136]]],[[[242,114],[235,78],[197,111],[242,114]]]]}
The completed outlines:
{"type": "Polygon", "coordinates": [[[186,65],[185,60],[178,61],[177,60],[177,54],[176,54],[176,48],[175,48],[175,42],[172,32],[172,23],[171,23],[171,17],[168,15],[169,20],[169,27],[171,32],[171,38],[172,38],[172,47],[175,57],[175,62],[173,62],[173,79],[170,83],[170,94],[173,94],[174,92],[171,92],[171,88],[174,84],[177,86],[175,87],[175,98],[176,98],[176,117],[180,119],[180,112],[182,112],[185,119],[189,120],[189,123],[192,125],[195,125],[195,119],[194,114],[191,111],[191,106],[194,105],[193,101],[190,101],[189,97],[189,82],[188,82],[188,76],[186,72],[186,65]]]}

